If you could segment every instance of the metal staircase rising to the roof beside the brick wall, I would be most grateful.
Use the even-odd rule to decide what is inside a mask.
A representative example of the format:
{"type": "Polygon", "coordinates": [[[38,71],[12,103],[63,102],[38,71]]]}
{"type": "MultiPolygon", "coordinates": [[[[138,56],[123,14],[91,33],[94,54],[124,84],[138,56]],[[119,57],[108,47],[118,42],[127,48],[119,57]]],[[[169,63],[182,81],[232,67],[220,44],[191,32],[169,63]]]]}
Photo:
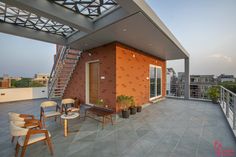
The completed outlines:
{"type": "Polygon", "coordinates": [[[80,58],[81,51],[57,46],[48,81],[48,98],[61,98],[80,58]]]}

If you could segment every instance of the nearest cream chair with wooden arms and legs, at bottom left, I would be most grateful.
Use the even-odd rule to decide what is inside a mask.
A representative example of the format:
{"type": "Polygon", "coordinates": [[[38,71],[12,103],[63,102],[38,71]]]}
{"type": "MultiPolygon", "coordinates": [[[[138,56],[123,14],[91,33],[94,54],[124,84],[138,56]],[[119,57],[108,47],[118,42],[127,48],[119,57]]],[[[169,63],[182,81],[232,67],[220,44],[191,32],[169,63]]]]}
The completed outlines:
{"type": "Polygon", "coordinates": [[[53,148],[50,139],[51,135],[47,130],[21,128],[17,126],[15,122],[11,121],[10,131],[13,136],[19,136],[16,144],[15,157],[18,156],[20,147],[22,147],[21,157],[24,157],[26,147],[40,141],[45,141],[48,144],[50,153],[53,155],[53,148]]]}

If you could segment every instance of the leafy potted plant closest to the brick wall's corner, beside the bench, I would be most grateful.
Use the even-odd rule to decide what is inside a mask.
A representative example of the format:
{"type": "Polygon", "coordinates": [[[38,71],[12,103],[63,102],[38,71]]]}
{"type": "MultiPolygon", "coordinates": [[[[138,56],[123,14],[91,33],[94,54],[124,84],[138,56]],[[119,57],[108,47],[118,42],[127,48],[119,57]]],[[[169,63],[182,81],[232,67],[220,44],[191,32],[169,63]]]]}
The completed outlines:
{"type": "Polygon", "coordinates": [[[129,97],[126,95],[119,95],[117,96],[117,103],[122,107],[122,118],[129,118],[129,105],[130,100],[129,97]]]}

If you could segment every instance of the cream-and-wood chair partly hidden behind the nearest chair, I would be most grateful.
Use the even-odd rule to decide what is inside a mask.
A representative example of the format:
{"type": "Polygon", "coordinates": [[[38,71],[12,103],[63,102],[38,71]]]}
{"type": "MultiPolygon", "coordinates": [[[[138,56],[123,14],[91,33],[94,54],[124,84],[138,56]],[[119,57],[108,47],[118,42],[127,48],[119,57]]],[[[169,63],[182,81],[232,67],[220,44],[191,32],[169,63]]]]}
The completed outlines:
{"type": "MultiPolygon", "coordinates": [[[[34,119],[34,115],[30,114],[19,114],[15,112],[8,113],[9,122],[13,121],[15,125],[23,128],[42,128],[41,122],[37,119],[34,119]]],[[[13,143],[15,136],[12,136],[11,142],[13,143]]]]}

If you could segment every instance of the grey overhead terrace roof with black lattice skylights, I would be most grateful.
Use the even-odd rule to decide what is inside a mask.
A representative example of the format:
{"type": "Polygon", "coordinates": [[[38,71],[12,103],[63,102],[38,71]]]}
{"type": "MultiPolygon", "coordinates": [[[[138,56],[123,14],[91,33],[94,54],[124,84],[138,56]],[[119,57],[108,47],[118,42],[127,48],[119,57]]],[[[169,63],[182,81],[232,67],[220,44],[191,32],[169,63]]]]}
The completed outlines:
{"type": "Polygon", "coordinates": [[[144,0],[0,0],[0,32],[79,50],[118,41],[185,59],[189,77],[189,54],[144,0]]]}

